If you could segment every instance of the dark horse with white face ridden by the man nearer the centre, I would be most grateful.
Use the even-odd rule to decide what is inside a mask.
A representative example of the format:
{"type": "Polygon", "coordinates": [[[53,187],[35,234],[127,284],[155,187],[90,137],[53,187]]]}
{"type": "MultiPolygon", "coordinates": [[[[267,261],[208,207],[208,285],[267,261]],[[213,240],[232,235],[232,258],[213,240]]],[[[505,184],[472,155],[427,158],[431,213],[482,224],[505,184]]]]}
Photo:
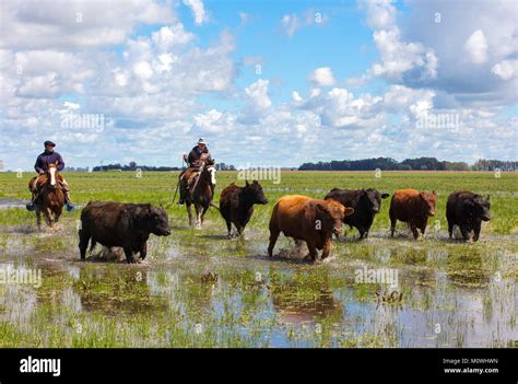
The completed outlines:
{"type": "Polygon", "coordinates": [[[186,196],[186,207],[189,214],[189,225],[200,230],[205,212],[210,206],[213,206],[212,198],[214,197],[216,172],[214,161],[202,160],[198,172],[197,179],[189,186],[189,191],[186,196]],[[196,221],[192,220],[191,205],[195,205],[196,221]]]}

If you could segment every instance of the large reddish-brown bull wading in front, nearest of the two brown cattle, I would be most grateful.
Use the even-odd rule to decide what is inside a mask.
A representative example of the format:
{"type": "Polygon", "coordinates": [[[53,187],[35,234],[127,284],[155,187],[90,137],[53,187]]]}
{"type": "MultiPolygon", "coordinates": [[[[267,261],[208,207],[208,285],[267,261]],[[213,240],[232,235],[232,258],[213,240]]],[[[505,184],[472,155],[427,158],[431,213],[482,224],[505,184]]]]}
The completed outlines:
{"type": "Polygon", "coordinates": [[[317,249],[322,249],[321,259],[325,259],[331,251],[332,233],[340,234],[343,218],[353,212],[354,209],[332,199],[311,199],[301,195],[281,197],[270,219],[268,256],[272,256],[279,234],[283,232],[287,237],[305,241],[308,257],[313,260],[317,259],[317,249]]]}

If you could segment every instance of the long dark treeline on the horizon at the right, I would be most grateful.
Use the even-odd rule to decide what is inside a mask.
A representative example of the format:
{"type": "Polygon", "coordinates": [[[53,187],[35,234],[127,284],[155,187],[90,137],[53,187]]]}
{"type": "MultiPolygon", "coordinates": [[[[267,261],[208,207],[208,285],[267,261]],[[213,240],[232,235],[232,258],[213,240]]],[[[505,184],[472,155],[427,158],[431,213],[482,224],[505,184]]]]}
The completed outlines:
{"type": "Polygon", "coordinates": [[[435,158],[407,159],[398,162],[390,158],[362,160],[333,160],[330,162],[304,163],[298,171],[517,171],[517,161],[480,159],[470,165],[464,162],[439,161],[435,158]]]}

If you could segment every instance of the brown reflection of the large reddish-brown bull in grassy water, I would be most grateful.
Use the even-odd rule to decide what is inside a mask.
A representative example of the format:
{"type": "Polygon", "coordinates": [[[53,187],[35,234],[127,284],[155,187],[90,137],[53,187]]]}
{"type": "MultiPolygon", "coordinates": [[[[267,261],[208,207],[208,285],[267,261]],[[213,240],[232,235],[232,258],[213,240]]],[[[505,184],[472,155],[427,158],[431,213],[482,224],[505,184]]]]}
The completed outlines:
{"type": "Polygon", "coordinates": [[[342,304],[334,299],[328,276],[315,278],[295,274],[287,281],[276,280],[271,281],[271,294],[282,322],[302,324],[325,318],[332,318],[333,323],[343,322],[342,304]]]}

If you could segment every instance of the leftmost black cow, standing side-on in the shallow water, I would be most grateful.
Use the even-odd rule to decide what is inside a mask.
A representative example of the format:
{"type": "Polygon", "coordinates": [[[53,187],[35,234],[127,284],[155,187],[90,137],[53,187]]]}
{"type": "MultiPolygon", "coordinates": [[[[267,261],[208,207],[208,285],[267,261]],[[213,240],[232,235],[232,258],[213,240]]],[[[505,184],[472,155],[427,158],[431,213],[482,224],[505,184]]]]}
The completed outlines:
{"type": "Polygon", "coordinates": [[[149,203],[122,203],[111,201],[91,201],[81,212],[79,249],[84,259],[89,241],[92,251],[96,243],[107,247],[120,246],[125,249],[128,263],[134,263],[133,254],[140,253],[144,259],[148,253],[148,238],[153,233],[168,236],[170,228],[167,212],[149,203]]]}

